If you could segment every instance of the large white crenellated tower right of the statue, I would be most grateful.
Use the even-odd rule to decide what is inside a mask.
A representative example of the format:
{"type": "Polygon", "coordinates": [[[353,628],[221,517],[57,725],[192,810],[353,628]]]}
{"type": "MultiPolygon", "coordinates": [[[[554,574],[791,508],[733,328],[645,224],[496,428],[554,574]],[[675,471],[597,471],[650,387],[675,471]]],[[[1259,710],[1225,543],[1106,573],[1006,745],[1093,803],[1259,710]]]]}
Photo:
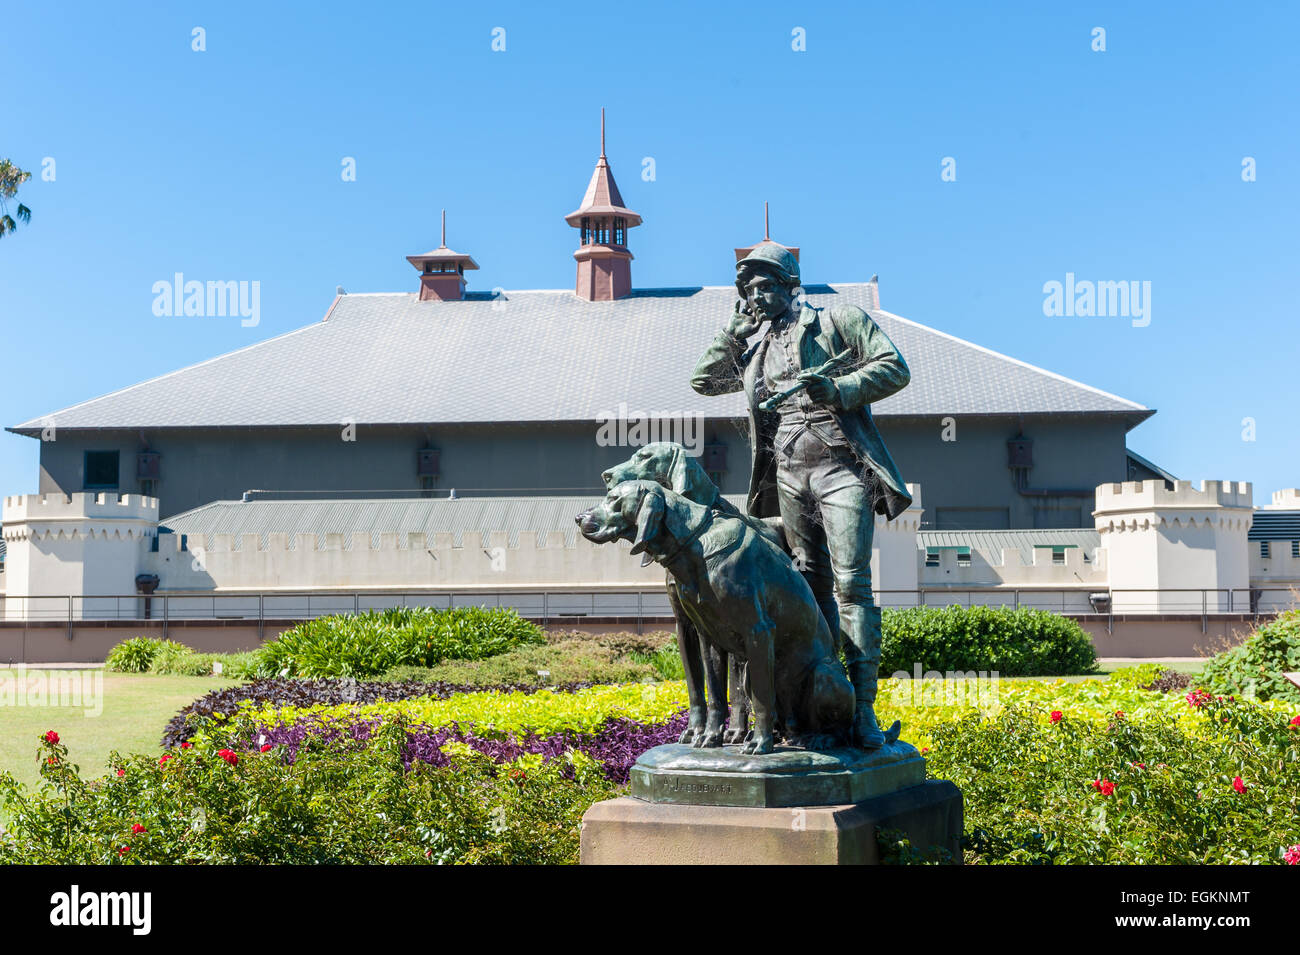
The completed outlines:
{"type": "Polygon", "coordinates": [[[1249,482],[1101,485],[1092,516],[1106,551],[1115,612],[1186,612],[1193,595],[1178,590],[1216,591],[1205,608],[1227,611],[1235,605],[1227,591],[1249,587],[1249,482]]]}

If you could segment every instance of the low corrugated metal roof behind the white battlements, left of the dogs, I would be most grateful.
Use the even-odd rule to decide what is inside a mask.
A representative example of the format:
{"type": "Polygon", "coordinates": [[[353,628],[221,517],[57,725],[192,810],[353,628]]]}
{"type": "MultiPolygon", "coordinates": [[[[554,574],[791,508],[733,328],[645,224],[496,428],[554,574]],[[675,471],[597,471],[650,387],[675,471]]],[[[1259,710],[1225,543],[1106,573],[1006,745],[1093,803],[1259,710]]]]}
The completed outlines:
{"type": "MultiPolygon", "coordinates": [[[[727,495],[744,508],[744,495],[727,495]]],[[[545,543],[550,531],[563,531],[566,543],[576,542],[573,518],[599,502],[599,495],[556,498],[419,498],[358,500],[214,500],[192,511],[169,517],[164,531],[173,534],[257,534],[263,546],[268,534],[289,534],[294,548],[295,534],[343,534],[344,548],[351,548],[352,534],[369,533],[370,546],[377,547],[380,534],[398,534],[407,546],[407,534],[451,534],[454,546],[462,546],[465,531],[506,531],[511,547],[519,544],[520,531],[537,531],[537,543],[545,543]]],[[[430,538],[432,543],[432,538],[430,538]]]]}

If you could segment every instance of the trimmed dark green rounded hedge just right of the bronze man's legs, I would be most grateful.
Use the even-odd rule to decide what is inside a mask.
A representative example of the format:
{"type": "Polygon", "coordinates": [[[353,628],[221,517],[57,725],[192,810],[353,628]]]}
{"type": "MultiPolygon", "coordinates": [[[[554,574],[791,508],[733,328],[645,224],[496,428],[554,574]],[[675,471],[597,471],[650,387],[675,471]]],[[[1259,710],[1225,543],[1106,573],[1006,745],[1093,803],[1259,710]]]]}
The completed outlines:
{"type": "Polygon", "coordinates": [[[1075,621],[1006,607],[887,609],[880,674],[997,670],[1004,677],[1092,673],[1097,651],[1075,621]]]}

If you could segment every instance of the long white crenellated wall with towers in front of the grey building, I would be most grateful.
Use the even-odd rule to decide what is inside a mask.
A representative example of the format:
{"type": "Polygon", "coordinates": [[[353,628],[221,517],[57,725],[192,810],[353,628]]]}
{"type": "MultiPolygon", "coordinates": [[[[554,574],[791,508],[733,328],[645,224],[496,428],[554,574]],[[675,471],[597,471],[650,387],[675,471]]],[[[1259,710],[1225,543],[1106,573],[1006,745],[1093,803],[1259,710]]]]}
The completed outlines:
{"type": "MultiPolygon", "coordinates": [[[[909,490],[913,504],[897,520],[876,516],[872,582],[880,591],[1072,590],[1079,605],[1061,609],[1087,611],[1089,591],[1112,590],[1117,612],[1173,612],[1199,611],[1200,595],[1171,594],[1171,589],[1239,591],[1231,608],[1226,596],[1212,598],[1210,611],[1244,609],[1244,591],[1252,585],[1279,589],[1269,607],[1286,598],[1284,589],[1300,590],[1300,557],[1291,556],[1288,542],[1275,543],[1266,561],[1258,557],[1257,544],[1247,543],[1253,513],[1249,483],[1180,481],[1171,490],[1160,481],[1102,485],[1093,511],[1101,547],[1091,560],[1078,548],[1067,548],[1061,564],[1048,548],[1036,550],[1031,561],[1010,548],[997,556],[974,550],[968,561],[942,550],[937,567],[924,567],[924,552],[918,550],[922,492],[916,485],[909,490]],[[1157,590],[1165,592],[1157,595],[1157,590]]],[[[1274,494],[1273,507],[1300,511],[1300,491],[1274,494]]],[[[179,535],[157,534],[157,500],[140,495],[5,498],[5,612],[16,616],[38,608],[57,616],[65,603],[56,596],[127,596],[135,592],[140,573],[157,574],[160,591],[228,594],[654,590],[663,583],[662,569],[641,567],[625,542],[597,546],[573,533],[546,531],[538,541],[536,531],[520,531],[514,546],[504,533],[467,533],[459,546],[451,534],[399,538],[393,533],[372,539],[368,533],[333,533],[292,541],[286,534],[269,534],[265,541],[255,534],[214,534],[190,535],[182,550],[179,535]],[[53,603],[46,607],[43,596],[53,603]]],[[[100,613],[92,600],[77,605],[83,617],[124,609],[120,603],[105,604],[100,613]]]]}

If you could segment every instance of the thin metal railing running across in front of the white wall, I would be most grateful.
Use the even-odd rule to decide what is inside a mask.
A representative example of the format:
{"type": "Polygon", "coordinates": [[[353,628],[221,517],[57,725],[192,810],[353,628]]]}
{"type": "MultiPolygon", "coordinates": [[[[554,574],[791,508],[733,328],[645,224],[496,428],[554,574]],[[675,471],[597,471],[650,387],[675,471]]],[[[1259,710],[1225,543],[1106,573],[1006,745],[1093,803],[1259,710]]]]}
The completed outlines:
{"type": "MultiPolygon", "coordinates": [[[[881,607],[1010,607],[1034,608],[1070,616],[1105,617],[1110,629],[1117,615],[1170,615],[1200,617],[1208,629],[1210,615],[1240,613],[1258,617],[1296,605],[1287,587],[1097,590],[1089,587],[930,587],[878,590],[881,607]]],[[[64,595],[0,596],[0,624],[64,622],[72,637],[78,624],[96,621],[155,621],[164,633],[173,621],[302,621],[332,613],[363,613],[394,607],[511,607],[543,624],[604,617],[636,622],[672,616],[663,589],[589,590],[403,590],[403,591],[198,591],[156,592],[151,596],[64,595]]]]}

